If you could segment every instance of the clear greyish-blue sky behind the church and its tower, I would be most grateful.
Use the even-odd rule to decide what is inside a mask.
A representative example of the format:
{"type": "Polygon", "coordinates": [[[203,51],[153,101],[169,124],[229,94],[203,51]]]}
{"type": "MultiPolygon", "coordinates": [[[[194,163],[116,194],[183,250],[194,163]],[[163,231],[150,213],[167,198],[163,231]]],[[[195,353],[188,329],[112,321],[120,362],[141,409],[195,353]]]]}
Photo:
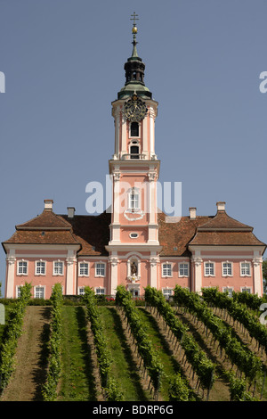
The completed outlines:
{"type": "MultiPolygon", "coordinates": [[[[134,11],[159,103],[160,181],[182,182],[182,215],[226,201],[267,242],[265,0],[0,0],[0,241],[44,199],[86,214],[85,186],[104,183],[114,152],[110,103],[125,84],[134,11]]],[[[4,273],[1,251],[2,283],[4,273]]]]}

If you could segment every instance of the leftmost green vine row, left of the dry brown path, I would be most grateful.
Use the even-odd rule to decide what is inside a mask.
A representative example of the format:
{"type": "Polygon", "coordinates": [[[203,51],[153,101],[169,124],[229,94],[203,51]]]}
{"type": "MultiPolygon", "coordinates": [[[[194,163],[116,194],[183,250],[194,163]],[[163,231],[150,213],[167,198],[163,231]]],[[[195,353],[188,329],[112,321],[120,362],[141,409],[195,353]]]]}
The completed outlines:
{"type": "Polygon", "coordinates": [[[18,339],[22,333],[23,318],[26,306],[31,297],[31,285],[25,283],[20,287],[20,298],[13,304],[9,321],[0,347],[0,392],[7,386],[15,369],[15,352],[18,339]]]}

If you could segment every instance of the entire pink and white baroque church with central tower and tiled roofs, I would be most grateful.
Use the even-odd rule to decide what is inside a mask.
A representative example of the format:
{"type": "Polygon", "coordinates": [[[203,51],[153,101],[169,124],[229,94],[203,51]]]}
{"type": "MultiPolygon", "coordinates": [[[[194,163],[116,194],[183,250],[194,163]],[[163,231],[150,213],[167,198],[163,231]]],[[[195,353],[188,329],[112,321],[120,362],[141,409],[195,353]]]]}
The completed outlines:
{"type": "Polygon", "coordinates": [[[61,283],[64,295],[82,295],[90,286],[96,294],[115,296],[119,284],[134,297],[150,285],[167,298],[176,284],[193,292],[218,286],[221,292],[263,295],[266,245],[253,227],[227,214],[225,202],[216,203],[213,216],[198,216],[190,208],[174,222],[158,210],[158,103],[144,83],[135,17],[125,86],[112,103],[111,209],[98,216],[77,215],[74,207],[56,214],[53,200],[45,199],[43,212],[16,226],[2,243],[6,298],[20,296],[25,282],[32,284],[34,298],[44,299],[50,298],[55,283],[61,283]]]}

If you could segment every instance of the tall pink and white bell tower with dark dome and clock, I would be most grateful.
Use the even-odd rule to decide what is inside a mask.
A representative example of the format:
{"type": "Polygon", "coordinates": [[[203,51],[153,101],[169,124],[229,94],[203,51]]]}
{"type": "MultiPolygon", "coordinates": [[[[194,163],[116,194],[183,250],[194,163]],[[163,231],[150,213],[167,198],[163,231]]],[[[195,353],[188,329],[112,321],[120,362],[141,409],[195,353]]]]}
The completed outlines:
{"type": "Polygon", "coordinates": [[[161,249],[157,207],[160,161],[155,152],[158,103],[144,84],[145,64],[136,48],[137,15],[134,12],[132,16],[133,53],[125,62],[125,86],[112,103],[115,151],[109,160],[112,205],[107,246],[111,294],[121,283],[133,290],[132,277],[137,291],[148,284],[157,286],[155,260],[161,249]]]}

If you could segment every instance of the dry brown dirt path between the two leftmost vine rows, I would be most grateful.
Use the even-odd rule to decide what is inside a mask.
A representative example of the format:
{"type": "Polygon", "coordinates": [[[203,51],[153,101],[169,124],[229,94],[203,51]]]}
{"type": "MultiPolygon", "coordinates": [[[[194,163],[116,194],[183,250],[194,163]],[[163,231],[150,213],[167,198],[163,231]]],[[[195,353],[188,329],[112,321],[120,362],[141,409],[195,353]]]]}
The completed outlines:
{"type": "Polygon", "coordinates": [[[40,401],[45,380],[45,342],[49,336],[50,308],[28,306],[16,350],[16,369],[1,401],[40,401]]]}

